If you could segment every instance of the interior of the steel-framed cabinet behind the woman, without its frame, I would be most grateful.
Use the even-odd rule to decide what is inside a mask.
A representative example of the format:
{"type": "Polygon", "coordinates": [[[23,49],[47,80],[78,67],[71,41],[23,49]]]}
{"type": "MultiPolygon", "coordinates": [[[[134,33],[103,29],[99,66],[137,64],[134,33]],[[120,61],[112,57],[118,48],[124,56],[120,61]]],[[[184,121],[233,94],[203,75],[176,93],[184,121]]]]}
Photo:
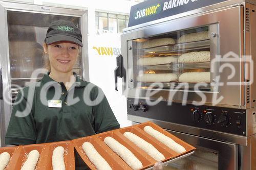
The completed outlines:
{"type": "MultiPolygon", "coordinates": [[[[63,16],[20,11],[7,11],[10,76],[12,98],[15,100],[19,89],[31,81],[42,78],[40,74],[33,74],[44,64],[44,40],[49,24],[54,20],[70,20],[80,28],[80,17],[63,16]],[[39,19],[40,18],[40,19],[39,19]]],[[[82,78],[82,59],[78,57],[74,71],[82,78]]]]}

